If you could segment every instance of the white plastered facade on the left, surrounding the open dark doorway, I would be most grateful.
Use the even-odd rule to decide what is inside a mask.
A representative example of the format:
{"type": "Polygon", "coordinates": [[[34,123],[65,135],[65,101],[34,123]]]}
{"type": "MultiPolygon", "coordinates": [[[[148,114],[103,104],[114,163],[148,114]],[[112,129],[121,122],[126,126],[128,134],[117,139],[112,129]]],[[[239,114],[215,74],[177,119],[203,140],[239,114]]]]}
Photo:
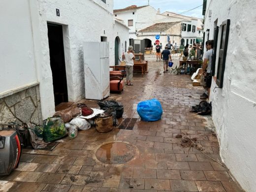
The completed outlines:
{"type": "Polygon", "coordinates": [[[6,28],[0,35],[4,56],[0,80],[6,82],[1,83],[0,93],[39,82],[43,119],[55,112],[47,22],[63,26],[68,101],[85,95],[83,41],[107,37],[110,65],[115,61],[116,36],[120,57],[122,45],[128,41],[128,27],[113,20],[113,0],[19,0],[15,4],[3,0],[0,9],[0,21],[6,28]]]}

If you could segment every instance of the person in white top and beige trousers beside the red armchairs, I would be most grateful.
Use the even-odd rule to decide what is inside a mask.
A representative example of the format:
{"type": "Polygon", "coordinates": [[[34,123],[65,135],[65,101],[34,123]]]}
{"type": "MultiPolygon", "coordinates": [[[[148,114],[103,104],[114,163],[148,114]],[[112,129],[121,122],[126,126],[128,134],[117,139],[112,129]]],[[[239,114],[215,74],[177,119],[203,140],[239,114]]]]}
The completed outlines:
{"type": "Polygon", "coordinates": [[[122,58],[126,61],[126,85],[133,85],[131,80],[135,56],[131,45],[128,46],[128,51],[122,55],[122,58]]]}

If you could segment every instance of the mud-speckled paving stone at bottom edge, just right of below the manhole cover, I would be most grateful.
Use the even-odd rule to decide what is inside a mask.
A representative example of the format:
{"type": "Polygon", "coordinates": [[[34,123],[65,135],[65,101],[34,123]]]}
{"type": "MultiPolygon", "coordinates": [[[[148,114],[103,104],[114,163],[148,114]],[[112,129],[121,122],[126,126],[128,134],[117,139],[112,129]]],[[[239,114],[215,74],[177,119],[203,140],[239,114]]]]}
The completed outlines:
{"type": "Polygon", "coordinates": [[[119,188],[121,189],[144,189],[144,179],[121,178],[119,188]]]}

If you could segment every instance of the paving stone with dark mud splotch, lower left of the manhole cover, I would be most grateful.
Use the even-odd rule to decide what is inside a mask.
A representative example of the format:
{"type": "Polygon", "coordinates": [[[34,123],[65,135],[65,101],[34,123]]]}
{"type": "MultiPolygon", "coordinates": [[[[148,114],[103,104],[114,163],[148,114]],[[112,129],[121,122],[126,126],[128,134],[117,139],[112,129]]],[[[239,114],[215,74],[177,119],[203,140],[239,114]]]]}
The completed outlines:
{"type": "Polygon", "coordinates": [[[75,175],[75,174],[66,174],[63,178],[61,184],[65,185],[81,185],[84,186],[88,180],[88,175],[75,175]]]}

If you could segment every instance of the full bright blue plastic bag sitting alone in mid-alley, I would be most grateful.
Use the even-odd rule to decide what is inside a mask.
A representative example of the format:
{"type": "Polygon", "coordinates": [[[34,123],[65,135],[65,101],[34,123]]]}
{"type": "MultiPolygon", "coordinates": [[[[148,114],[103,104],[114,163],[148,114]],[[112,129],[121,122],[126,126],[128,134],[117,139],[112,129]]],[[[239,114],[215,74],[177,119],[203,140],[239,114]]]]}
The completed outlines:
{"type": "Polygon", "coordinates": [[[162,116],[162,106],[158,99],[153,98],[139,102],[137,112],[142,121],[158,121],[162,116]]]}

